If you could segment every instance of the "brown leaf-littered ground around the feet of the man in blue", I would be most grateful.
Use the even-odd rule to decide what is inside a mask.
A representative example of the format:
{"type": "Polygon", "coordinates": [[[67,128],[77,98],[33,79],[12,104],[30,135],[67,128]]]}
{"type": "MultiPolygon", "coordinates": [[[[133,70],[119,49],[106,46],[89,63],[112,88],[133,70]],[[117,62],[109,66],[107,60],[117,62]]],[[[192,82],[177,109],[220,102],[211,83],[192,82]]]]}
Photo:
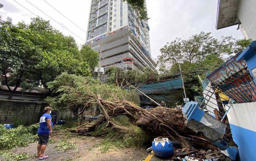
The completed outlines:
{"type": "MultiPolygon", "coordinates": [[[[124,149],[109,149],[107,152],[101,152],[100,146],[97,146],[103,141],[102,137],[87,137],[87,136],[67,136],[54,134],[50,138],[45,154],[49,156],[45,160],[55,161],[140,161],[144,160],[147,156],[147,150],[145,148],[124,148],[124,149]],[[71,148],[66,152],[58,149],[59,140],[68,139],[77,150],[71,148]]],[[[30,143],[26,147],[15,148],[11,150],[11,153],[20,154],[26,152],[28,159],[26,161],[37,161],[35,158],[37,148],[37,142],[30,143]]],[[[1,158],[2,159],[2,158],[1,158]]],[[[1,160],[0,159],[0,160],[1,160]]]]}

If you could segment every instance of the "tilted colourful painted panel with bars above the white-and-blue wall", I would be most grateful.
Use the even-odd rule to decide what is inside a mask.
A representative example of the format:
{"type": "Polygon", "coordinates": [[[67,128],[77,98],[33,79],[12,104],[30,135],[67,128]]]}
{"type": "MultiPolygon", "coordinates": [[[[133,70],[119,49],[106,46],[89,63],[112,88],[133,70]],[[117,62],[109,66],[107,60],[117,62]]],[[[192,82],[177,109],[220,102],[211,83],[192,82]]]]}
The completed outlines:
{"type": "Polygon", "coordinates": [[[206,78],[211,81],[213,88],[221,89],[238,103],[253,102],[256,101],[255,84],[245,60],[236,61],[240,54],[237,53],[206,78]]]}

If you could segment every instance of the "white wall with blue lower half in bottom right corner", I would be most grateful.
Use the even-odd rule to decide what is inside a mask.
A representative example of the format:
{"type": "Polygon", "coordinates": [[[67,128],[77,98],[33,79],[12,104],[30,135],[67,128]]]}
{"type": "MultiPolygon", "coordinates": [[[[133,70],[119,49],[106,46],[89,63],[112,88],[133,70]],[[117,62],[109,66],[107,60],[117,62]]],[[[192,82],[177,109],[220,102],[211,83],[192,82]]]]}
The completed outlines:
{"type": "Polygon", "coordinates": [[[238,145],[239,160],[256,160],[256,102],[233,104],[228,111],[228,121],[235,143],[238,145]]]}

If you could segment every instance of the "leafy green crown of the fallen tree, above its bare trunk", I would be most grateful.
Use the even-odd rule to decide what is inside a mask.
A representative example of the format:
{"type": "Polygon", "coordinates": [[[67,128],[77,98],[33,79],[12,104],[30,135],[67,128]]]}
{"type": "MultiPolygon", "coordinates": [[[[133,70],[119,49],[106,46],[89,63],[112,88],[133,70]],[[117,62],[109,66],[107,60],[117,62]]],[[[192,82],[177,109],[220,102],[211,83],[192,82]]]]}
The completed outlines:
{"type": "Polygon", "coordinates": [[[136,93],[128,93],[126,90],[113,84],[101,84],[92,77],[71,75],[66,72],[61,73],[61,75],[47,85],[49,88],[55,89],[56,95],[55,97],[47,97],[46,101],[49,102],[51,107],[56,109],[83,106],[84,103],[95,99],[98,94],[104,99],[138,102],[138,98],[134,97],[136,93]]]}

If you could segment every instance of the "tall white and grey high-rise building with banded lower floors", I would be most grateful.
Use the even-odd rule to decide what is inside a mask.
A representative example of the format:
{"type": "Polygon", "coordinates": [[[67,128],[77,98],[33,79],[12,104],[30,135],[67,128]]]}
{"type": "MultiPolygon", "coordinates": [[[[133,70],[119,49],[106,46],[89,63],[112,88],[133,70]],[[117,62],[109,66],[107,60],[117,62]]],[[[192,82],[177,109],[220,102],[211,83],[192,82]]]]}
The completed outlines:
{"type": "Polygon", "coordinates": [[[149,26],[123,0],[91,0],[87,42],[100,53],[100,66],[156,70],[150,55],[149,26]]]}

